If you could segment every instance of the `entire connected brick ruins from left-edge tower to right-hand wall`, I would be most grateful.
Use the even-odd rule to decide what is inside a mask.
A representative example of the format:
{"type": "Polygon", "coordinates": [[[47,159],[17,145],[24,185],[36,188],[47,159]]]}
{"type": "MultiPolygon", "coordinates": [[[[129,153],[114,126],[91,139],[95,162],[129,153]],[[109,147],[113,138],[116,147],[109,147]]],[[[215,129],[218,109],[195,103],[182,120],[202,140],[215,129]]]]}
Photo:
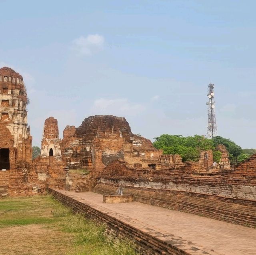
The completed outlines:
{"type": "Polygon", "coordinates": [[[134,135],[125,118],[90,116],[78,128],[45,120],[41,155],[32,161],[26,88],[10,68],[0,69],[0,195],[44,193],[47,185],[76,192],[112,194],[122,185],[136,201],[256,225],[256,155],[231,168],[228,152],[213,162],[163,155],[151,141],[134,135]]]}

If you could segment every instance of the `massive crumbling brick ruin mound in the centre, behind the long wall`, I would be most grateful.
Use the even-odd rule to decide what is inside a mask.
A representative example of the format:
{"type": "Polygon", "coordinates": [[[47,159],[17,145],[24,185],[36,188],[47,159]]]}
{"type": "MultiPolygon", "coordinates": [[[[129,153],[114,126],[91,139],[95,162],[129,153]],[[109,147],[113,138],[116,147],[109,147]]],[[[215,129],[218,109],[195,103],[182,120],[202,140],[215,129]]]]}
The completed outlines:
{"type": "Polygon", "coordinates": [[[86,168],[95,176],[115,159],[148,166],[162,155],[150,140],[134,135],[125,118],[110,115],[90,116],[78,128],[67,126],[61,151],[70,169],[86,168]]]}

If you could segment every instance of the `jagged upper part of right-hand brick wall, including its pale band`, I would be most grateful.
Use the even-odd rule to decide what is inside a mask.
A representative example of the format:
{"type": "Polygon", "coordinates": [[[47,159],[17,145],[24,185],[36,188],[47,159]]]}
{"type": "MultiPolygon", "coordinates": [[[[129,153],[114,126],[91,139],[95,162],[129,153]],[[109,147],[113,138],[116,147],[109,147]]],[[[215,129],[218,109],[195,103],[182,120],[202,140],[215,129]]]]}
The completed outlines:
{"type": "Polygon", "coordinates": [[[156,170],[134,169],[128,167],[124,161],[114,161],[104,168],[99,181],[256,201],[255,164],[256,155],[235,169],[201,172],[200,165],[195,162],[156,170]]]}

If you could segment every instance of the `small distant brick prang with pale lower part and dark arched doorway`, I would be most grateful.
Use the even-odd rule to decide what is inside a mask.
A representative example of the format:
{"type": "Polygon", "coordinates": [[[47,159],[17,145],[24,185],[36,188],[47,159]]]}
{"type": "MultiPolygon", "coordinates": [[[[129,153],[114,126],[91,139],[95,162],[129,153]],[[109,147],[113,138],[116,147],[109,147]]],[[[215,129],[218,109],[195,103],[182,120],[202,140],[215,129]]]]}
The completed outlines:
{"type": "Polygon", "coordinates": [[[58,121],[50,117],[44,122],[41,141],[42,157],[61,157],[58,121]]]}

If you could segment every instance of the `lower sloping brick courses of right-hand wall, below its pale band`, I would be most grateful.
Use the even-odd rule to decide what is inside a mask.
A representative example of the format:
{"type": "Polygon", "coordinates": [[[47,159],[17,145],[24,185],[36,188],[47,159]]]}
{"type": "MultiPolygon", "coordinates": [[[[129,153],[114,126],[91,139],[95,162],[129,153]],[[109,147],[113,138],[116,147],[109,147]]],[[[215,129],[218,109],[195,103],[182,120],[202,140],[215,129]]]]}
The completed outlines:
{"type": "MultiPolygon", "coordinates": [[[[171,191],[166,189],[150,189],[145,187],[124,187],[124,195],[134,195],[134,200],[211,217],[218,220],[256,226],[256,202],[244,199],[230,199],[203,193],[171,191]]],[[[100,194],[115,193],[118,185],[99,183],[94,192],[100,194]]]]}

